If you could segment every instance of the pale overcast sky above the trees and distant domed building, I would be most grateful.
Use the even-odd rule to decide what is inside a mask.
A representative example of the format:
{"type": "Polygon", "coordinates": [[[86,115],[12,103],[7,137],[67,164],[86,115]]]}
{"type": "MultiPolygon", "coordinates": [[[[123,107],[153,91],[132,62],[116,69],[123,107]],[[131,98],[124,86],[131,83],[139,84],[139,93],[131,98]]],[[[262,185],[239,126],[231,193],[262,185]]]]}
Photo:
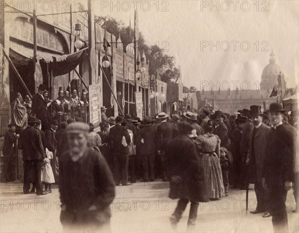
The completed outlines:
{"type": "Polygon", "coordinates": [[[150,45],[158,43],[175,57],[187,87],[201,89],[201,81],[248,80],[250,89],[256,89],[271,49],[287,86],[298,83],[298,1],[215,0],[212,8],[211,1],[200,0],[113,1],[112,8],[111,2],[94,1],[95,13],[122,19],[126,25],[131,18],[133,27],[136,4],[140,31],[150,45]]]}

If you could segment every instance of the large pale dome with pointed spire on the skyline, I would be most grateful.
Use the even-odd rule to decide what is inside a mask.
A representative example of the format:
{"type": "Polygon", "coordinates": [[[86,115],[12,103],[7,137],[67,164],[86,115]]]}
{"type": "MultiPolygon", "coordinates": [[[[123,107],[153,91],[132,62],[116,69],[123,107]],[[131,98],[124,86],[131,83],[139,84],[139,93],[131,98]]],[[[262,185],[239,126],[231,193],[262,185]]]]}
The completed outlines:
{"type": "Polygon", "coordinates": [[[286,80],[285,80],[285,75],[282,72],[280,66],[275,63],[275,54],[273,53],[273,50],[270,54],[271,58],[269,60],[270,64],[268,64],[262,73],[262,79],[260,83],[260,89],[262,91],[264,90],[269,90],[270,93],[273,90],[273,87],[275,84],[278,83],[278,76],[281,74],[282,77],[282,93],[283,97],[286,92],[286,80]]]}

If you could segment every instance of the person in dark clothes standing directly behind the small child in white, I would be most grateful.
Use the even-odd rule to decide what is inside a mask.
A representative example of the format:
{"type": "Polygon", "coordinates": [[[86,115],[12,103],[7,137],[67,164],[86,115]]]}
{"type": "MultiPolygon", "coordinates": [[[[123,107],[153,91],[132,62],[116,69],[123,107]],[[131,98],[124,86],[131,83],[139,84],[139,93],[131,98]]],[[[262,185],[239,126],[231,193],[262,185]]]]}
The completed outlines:
{"type": "Polygon", "coordinates": [[[56,149],[57,149],[57,140],[56,140],[56,130],[58,128],[58,121],[53,119],[51,122],[50,129],[45,131],[47,139],[47,148],[49,151],[53,152],[53,159],[51,159],[51,167],[54,174],[55,183],[58,183],[58,162],[56,161],[56,149]]]}

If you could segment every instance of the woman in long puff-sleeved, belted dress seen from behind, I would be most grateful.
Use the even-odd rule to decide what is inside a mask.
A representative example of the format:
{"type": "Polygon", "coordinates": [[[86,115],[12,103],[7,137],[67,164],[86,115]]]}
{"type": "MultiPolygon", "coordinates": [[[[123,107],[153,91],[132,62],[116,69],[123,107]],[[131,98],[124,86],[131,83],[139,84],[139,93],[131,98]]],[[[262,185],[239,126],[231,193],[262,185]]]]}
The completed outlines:
{"type": "Polygon", "coordinates": [[[204,126],[204,134],[196,140],[200,164],[204,172],[208,197],[219,199],[224,197],[223,178],[220,166],[220,138],[212,133],[211,120],[204,126]]]}

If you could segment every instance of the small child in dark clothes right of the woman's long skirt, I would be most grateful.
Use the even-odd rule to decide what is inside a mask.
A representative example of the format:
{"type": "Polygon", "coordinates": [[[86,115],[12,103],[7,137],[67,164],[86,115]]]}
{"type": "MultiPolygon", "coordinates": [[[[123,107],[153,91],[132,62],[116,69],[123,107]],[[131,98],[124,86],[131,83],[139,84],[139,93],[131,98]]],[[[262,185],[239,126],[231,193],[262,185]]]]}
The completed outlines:
{"type": "Polygon", "coordinates": [[[230,164],[232,163],[232,155],[231,153],[225,148],[220,148],[220,166],[222,171],[222,178],[223,178],[223,186],[224,186],[224,193],[225,197],[228,196],[228,171],[230,164]]]}

